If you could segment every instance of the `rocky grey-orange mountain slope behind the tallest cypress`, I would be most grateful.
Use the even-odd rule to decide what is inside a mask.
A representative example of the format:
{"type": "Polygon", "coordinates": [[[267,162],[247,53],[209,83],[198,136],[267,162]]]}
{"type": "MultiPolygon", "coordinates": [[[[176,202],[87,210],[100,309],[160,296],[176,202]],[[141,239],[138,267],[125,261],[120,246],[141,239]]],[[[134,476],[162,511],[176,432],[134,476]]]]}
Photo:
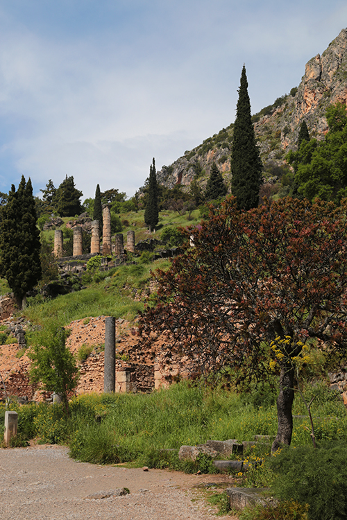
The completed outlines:
{"type": "MultiPolygon", "coordinates": [[[[328,131],[325,112],[337,101],[347,105],[347,29],[317,54],[305,67],[300,85],[276,99],[253,116],[255,135],[264,165],[264,177],[280,177],[287,171],[285,155],[296,149],[301,122],[305,119],[310,137],[323,139],[328,131]]],[[[189,187],[195,178],[202,187],[207,182],[212,162],[216,162],[230,186],[230,155],[233,125],[205,139],[170,166],[157,172],[158,182],[168,188],[176,184],[189,187]]]]}

